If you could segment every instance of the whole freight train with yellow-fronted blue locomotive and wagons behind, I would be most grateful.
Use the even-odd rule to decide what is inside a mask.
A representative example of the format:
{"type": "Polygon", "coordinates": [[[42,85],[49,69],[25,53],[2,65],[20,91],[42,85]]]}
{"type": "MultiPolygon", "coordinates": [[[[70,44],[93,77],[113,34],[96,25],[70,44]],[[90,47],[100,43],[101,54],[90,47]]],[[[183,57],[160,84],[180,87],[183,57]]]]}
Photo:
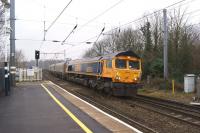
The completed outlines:
{"type": "Polygon", "coordinates": [[[141,59],[132,51],[52,64],[49,71],[114,96],[133,96],[141,87],[141,59]]]}

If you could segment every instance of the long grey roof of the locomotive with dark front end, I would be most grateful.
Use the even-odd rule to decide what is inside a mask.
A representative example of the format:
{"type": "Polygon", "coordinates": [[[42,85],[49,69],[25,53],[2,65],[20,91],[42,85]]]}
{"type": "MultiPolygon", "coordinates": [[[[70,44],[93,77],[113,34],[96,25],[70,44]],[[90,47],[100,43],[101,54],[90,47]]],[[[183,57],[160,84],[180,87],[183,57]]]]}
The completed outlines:
{"type": "Polygon", "coordinates": [[[112,58],[118,57],[118,56],[131,56],[131,57],[140,58],[133,51],[120,51],[120,52],[115,52],[115,53],[112,53],[112,54],[106,54],[106,55],[103,55],[103,56],[98,56],[98,57],[93,57],[93,58],[84,58],[84,59],[72,60],[72,61],[69,61],[69,65],[70,64],[76,64],[76,63],[79,63],[79,62],[97,62],[97,61],[100,61],[101,59],[112,59],[112,58]]]}

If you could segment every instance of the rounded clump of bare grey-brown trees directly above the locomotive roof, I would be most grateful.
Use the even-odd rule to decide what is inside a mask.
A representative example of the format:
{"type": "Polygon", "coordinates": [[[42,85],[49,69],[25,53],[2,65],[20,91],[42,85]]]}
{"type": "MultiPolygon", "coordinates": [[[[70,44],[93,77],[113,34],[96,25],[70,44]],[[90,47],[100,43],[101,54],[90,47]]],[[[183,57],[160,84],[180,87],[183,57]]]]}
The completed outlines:
{"type": "Polygon", "coordinates": [[[139,30],[128,28],[120,32],[116,30],[105,35],[106,37],[95,43],[93,47],[85,53],[84,57],[100,56],[125,50],[133,50],[139,55],[142,53],[143,43],[139,30]]]}

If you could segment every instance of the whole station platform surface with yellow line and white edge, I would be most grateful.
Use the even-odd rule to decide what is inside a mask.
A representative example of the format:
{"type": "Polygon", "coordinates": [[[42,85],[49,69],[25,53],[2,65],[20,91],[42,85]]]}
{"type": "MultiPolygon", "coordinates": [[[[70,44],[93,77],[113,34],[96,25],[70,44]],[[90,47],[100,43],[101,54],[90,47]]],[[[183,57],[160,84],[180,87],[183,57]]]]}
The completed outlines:
{"type": "Polygon", "coordinates": [[[0,97],[0,133],[140,132],[56,84],[20,83],[0,97]]]}

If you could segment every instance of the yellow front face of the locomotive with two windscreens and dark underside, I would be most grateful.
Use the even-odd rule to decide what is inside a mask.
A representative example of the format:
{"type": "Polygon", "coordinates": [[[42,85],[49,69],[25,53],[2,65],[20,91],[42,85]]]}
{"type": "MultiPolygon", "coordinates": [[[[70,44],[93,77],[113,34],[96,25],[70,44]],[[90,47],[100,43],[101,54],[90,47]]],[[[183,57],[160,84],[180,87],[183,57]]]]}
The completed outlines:
{"type": "Polygon", "coordinates": [[[133,96],[141,87],[141,59],[137,56],[118,55],[113,58],[112,88],[116,96],[133,96]]]}

